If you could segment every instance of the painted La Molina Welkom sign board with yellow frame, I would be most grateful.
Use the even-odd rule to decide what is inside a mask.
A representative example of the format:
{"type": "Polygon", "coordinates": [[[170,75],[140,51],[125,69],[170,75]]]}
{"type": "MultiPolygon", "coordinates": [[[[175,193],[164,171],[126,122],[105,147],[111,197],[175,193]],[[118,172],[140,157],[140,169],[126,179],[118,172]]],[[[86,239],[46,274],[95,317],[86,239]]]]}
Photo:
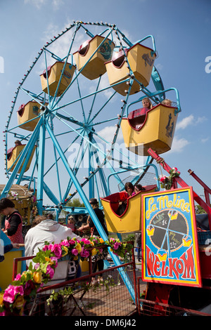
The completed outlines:
{"type": "Polygon", "coordinates": [[[142,196],[142,279],[202,286],[192,187],[142,196]]]}

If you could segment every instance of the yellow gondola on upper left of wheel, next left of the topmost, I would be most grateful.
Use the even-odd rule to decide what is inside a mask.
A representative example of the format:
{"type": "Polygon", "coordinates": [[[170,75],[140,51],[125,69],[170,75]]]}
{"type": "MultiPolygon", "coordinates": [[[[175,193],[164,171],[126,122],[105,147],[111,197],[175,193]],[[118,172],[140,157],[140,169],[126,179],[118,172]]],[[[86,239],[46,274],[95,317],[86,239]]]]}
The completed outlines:
{"type": "Polygon", "coordinates": [[[48,80],[49,80],[49,94],[51,96],[54,96],[54,94],[56,93],[56,89],[58,87],[59,81],[60,84],[56,96],[62,95],[65,89],[70,85],[76,67],[75,65],[72,65],[67,62],[65,65],[65,70],[63,71],[64,65],[65,65],[64,62],[55,62],[51,67],[47,68],[47,74],[46,74],[46,70],[44,70],[44,72],[40,75],[41,88],[45,93],[48,93],[48,80]],[[63,77],[60,80],[60,75],[62,72],[63,72],[63,77]]]}

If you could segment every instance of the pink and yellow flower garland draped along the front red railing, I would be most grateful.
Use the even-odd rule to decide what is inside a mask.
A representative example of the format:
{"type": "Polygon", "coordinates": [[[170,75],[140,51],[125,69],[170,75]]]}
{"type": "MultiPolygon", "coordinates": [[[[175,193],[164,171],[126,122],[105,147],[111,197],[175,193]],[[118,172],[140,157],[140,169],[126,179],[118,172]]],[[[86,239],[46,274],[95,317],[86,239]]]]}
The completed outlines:
{"type": "Polygon", "coordinates": [[[53,278],[58,265],[58,259],[69,256],[73,260],[79,258],[87,260],[89,256],[108,251],[108,247],[117,256],[124,256],[131,249],[132,244],[120,242],[119,239],[109,239],[104,242],[101,237],[64,239],[60,244],[45,242],[44,248],[39,250],[32,259],[28,270],[18,274],[14,281],[0,292],[0,316],[23,315],[25,303],[30,302],[41,287],[53,278]]]}

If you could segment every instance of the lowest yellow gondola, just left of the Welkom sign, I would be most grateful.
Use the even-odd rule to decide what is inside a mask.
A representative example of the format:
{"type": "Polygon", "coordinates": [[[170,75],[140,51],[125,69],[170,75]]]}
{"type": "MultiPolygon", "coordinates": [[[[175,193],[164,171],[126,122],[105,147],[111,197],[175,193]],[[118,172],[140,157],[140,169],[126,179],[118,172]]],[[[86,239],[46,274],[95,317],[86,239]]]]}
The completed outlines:
{"type": "Polygon", "coordinates": [[[141,230],[141,195],[154,192],[157,185],[148,185],[145,190],[127,198],[126,192],[116,192],[101,198],[108,232],[136,232],[141,230]],[[117,215],[119,202],[127,200],[122,216],[117,215]]]}

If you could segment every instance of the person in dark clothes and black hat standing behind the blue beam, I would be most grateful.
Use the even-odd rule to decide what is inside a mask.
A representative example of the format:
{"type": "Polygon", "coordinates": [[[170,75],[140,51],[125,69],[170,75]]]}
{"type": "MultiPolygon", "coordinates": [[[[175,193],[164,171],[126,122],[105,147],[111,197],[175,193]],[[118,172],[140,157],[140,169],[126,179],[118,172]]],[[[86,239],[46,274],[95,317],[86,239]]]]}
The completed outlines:
{"type": "MultiPolygon", "coordinates": [[[[94,213],[96,213],[96,216],[98,217],[99,222],[101,223],[103,230],[105,230],[106,235],[108,235],[108,230],[106,228],[105,220],[104,220],[104,214],[101,209],[98,208],[98,201],[96,198],[91,198],[89,200],[89,203],[91,204],[91,207],[94,209],[94,213]]],[[[91,219],[89,216],[87,219],[87,225],[84,225],[82,227],[79,227],[79,231],[82,231],[84,229],[91,228],[91,236],[100,236],[98,233],[98,230],[96,229],[96,226],[94,225],[94,221],[91,219]]],[[[97,268],[98,271],[100,272],[104,268],[104,259],[107,258],[108,253],[103,253],[99,255],[98,253],[95,256],[91,257],[91,264],[92,264],[92,272],[96,272],[97,268]]],[[[103,277],[98,276],[97,282],[100,284],[103,284],[103,277]]],[[[91,280],[92,284],[96,283],[95,277],[92,277],[91,280]]]]}

